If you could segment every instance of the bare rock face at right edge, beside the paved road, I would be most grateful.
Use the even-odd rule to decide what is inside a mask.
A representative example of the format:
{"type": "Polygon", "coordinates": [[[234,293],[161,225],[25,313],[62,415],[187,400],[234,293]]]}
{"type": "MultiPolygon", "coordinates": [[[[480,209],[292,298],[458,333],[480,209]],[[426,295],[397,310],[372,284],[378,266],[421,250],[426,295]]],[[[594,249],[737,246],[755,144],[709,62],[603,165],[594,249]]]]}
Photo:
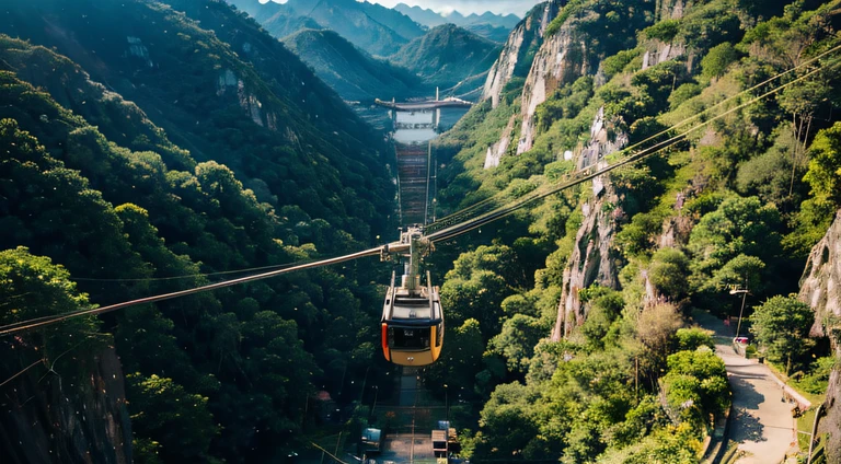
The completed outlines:
{"type": "Polygon", "coordinates": [[[800,280],[800,300],[815,310],[813,335],[829,336],[836,367],[829,378],[826,417],[820,432],[829,433],[828,462],[841,463],[841,210],[823,239],[811,250],[800,280]]]}

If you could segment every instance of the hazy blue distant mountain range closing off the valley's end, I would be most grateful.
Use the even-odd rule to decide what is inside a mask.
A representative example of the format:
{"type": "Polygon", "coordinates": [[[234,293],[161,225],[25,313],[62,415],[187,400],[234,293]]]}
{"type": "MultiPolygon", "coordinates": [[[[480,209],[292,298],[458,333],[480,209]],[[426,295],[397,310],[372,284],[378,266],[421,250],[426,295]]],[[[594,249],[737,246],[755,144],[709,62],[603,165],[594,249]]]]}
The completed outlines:
{"type": "MultiPolygon", "coordinates": [[[[419,27],[416,23],[401,15],[404,20],[392,18],[383,20],[383,23],[394,25],[395,31],[399,30],[405,37],[415,38],[411,42],[395,39],[393,55],[388,53],[387,58],[380,58],[376,55],[382,55],[387,50],[372,50],[354,38],[358,32],[348,28],[352,27],[353,21],[347,18],[333,18],[339,14],[362,14],[360,12],[365,12],[366,18],[390,18],[380,11],[380,5],[353,0],[353,5],[345,4],[345,0],[333,4],[324,0],[310,7],[295,1],[283,5],[269,2],[254,7],[247,3],[250,1],[256,2],[239,0],[233,3],[241,5],[269,33],[283,39],[289,49],[344,100],[361,102],[360,105],[355,105],[355,111],[378,126],[382,124],[383,112],[370,109],[375,98],[429,97],[435,94],[436,86],[446,94],[454,93],[475,98],[477,89],[497,55],[495,43],[464,28],[448,24],[424,32],[416,30],[419,27]],[[314,13],[322,10],[331,12],[331,22],[341,21],[344,25],[331,26],[332,23],[324,22],[321,13],[314,13]],[[295,32],[293,27],[303,23],[293,19],[304,18],[301,15],[304,11],[312,13],[307,13],[307,20],[316,21],[319,25],[315,25],[314,30],[295,32]],[[412,22],[413,26],[405,26],[406,21],[412,22]],[[322,26],[332,31],[320,31],[322,26]],[[383,59],[388,59],[388,62],[383,59]]],[[[385,10],[391,11],[391,15],[400,14],[394,10],[385,10]]]]}

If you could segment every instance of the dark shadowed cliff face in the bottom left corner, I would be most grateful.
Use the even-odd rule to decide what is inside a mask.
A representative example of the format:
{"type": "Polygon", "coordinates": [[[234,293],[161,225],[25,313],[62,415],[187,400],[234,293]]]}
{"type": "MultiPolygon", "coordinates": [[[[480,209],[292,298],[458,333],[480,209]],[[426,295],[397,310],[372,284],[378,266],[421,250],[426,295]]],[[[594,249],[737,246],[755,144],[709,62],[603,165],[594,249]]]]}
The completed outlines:
{"type": "Polygon", "coordinates": [[[38,366],[2,386],[0,462],[131,462],[131,426],[114,349],[74,362],[84,374],[45,374],[38,366]]]}

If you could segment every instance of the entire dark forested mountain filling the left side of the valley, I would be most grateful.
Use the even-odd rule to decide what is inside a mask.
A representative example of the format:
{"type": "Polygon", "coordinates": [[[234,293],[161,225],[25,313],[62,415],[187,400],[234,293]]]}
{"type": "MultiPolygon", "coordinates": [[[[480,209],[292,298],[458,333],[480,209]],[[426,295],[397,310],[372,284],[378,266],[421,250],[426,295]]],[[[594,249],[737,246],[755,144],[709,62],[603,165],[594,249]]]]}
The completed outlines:
{"type": "MultiPolygon", "coordinates": [[[[226,3],[44,0],[7,16],[1,32],[27,42],[0,39],[2,324],[392,230],[382,139],[226,3]]],[[[347,381],[355,397],[358,374],[376,379],[377,272],[326,268],[3,337],[0,461],[286,456],[319,420],[316,385],[347,381]]]]}

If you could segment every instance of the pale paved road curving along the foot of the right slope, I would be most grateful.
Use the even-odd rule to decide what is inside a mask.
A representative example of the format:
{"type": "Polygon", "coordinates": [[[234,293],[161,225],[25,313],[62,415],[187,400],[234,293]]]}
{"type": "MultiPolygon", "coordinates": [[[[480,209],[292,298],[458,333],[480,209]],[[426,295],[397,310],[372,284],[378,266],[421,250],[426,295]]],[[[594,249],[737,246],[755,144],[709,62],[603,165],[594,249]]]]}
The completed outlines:
{"type": "Polygon", "coordinates": [[[740,464],[779,463],[796,445],[792,405],[783,402],[780,383],[756,360],[745,359],[733,349],[731,328],[708,314],[693,314],[704,327],[715,332],[715,351],[727,368],[733,390],[735,416],[730,421],[730,440],[748,454],[740,464]]]}

